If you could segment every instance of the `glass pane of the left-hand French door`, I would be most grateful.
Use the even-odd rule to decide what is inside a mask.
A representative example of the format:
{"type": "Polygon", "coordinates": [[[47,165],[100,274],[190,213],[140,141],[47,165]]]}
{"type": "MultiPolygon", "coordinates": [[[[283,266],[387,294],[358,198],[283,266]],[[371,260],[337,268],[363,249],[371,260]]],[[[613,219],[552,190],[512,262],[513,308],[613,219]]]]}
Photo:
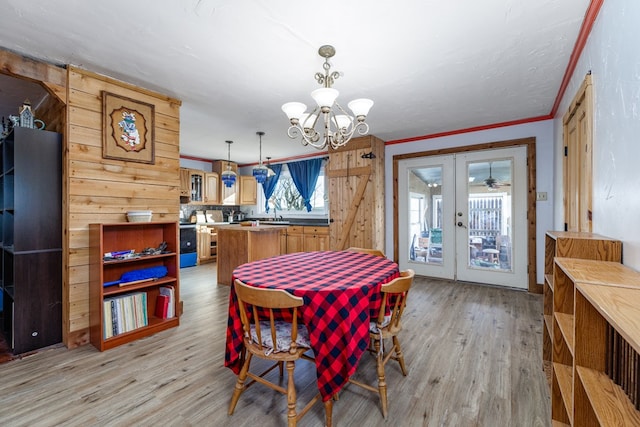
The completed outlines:
{"type": "Polygon", "coordinates": [[[442,264],[442,166],[409,170],[409,259],[442,264]]]}

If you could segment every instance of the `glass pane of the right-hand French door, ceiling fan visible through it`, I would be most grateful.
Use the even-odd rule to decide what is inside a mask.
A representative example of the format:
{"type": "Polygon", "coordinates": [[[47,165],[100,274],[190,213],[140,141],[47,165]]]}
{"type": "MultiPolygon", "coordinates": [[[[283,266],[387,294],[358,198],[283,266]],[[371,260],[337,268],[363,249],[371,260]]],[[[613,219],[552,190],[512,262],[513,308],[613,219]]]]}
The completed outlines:
{"type": "Polygon", "coordinates": [[[468,163],[468,266],[511,271],[512,160],[468,163]]]}

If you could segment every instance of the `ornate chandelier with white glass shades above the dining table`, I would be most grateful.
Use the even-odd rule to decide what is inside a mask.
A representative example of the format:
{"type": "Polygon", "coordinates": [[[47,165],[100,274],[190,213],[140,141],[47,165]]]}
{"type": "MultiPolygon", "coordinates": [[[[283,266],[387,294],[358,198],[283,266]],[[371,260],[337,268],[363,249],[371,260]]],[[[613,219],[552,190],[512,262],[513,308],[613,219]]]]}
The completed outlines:
{"type": "Polygon", "coordinates": [[[365,123],[367,113],[373,101],[370,99],[354,99],[348,107],[353,115],[347,113],[336,102],[339,92],[333,89],[333,82],[340,77],[337,71],[331,71],[329,58],[335,55],[333,46],[324,45],[318,49],[318,55],[324,58],[324,74],[316,73],[315,78],[323,87],[311,92],[311,97],[316,101],[316,107],[306,113],[307,106],[301,102],[287,102],[282,106],[282,111],[287,115],[291,126],[287,131],[289,138],[295,139],[302,136],[303,145],[323,149],[328,145],[333,149],[342,147],[356,133],[366,135],[369,125],[365,123]],[[318,129],[316,130],[316,125],[318,129]]]}

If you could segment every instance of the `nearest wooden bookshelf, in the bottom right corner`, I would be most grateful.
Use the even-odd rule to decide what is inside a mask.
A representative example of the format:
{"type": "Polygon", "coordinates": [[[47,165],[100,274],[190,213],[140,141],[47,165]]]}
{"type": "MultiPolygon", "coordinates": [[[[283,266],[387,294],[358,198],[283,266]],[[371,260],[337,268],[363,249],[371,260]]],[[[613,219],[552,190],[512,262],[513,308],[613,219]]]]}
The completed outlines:
{"type": "Polygon", "coordinates": [[[576,284],[574,425],[640,425],[639,300],[640,288],[576,284]],[[610,330],[625,343],[620,354],[610,330]],[[616,375],[607,372],[614,362],[616,375]]]}

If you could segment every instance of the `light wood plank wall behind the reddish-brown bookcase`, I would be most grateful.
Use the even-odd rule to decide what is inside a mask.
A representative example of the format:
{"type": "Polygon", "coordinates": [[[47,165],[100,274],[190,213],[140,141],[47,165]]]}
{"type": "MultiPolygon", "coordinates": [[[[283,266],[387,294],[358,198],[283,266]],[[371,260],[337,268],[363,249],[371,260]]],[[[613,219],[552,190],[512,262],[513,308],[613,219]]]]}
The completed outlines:
{"type": "Polygon", "coordinates": [[[89,224],[141,209],[179,219],[181,102],[73,66],[67,99],[63,341],[71,348],[89,342],[89,224]],[[155,164],[102,158],[102,91],[155,106],[155,164]]]}

